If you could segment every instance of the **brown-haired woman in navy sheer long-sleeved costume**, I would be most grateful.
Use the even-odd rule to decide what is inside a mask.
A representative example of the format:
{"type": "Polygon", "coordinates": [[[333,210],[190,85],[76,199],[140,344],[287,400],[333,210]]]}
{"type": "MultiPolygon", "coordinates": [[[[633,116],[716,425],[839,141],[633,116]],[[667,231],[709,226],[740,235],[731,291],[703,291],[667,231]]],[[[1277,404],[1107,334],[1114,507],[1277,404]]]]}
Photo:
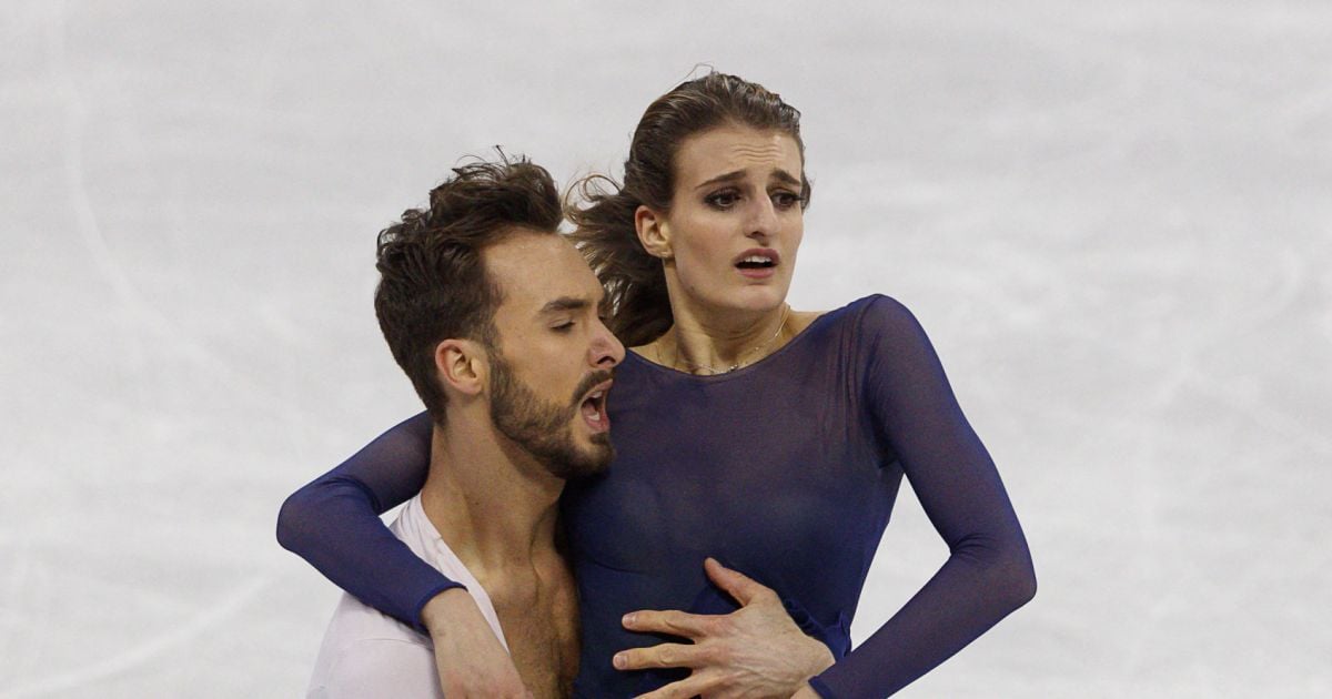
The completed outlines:
{"type": "MultiPolygon", "coordinates": [[[[892,694],[1035,592],[994,463],[910,312],[882,296],[825,314],[786,305],[810,200],[803,164],[799,112],[713,73],[653,103],[623,186],[586,181],[570,214],[613,300],[609,325],[633,348],[610,401],[618,457],[562,501],[581,594],[578,694],[682,676],[622,672],[610,658],[651,643],[622,627],[626,612],[737,608],[706,579],[705,557],[775,590],[829,646],[836,662],[810,680],[823,696],[892,694]],[[951,555],[848,652],[903,475],[951,555]]],[[[414,622],[448,581],[374,513],[420,487],[426,454],[420,421],[390,430],[288,501],[284,545],[414,622]]]]}

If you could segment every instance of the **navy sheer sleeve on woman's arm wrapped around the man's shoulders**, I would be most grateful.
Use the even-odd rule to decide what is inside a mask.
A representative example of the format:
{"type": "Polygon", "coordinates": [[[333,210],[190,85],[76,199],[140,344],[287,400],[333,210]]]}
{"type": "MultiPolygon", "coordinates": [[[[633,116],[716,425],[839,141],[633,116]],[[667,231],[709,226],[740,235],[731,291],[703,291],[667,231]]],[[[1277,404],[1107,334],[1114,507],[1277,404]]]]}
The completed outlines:
{"type": "Polygon", "coordinates": [[[380,519],[425,485],[430,417],[409,418],[293,493],[277,541],[338,587],[421,632],[421,607],[462,584],[417,558],[380,519]]]}

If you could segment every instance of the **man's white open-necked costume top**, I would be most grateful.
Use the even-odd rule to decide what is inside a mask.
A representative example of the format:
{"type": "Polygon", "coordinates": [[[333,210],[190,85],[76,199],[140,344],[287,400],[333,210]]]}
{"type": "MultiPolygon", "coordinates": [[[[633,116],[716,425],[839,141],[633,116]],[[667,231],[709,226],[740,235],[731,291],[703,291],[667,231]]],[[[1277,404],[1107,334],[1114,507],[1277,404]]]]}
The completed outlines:
{"type": "MultiPolygon", "coordinates": [[[[420,494],[408,501],[389,529],[416,555],[468,587],[481,607],[481,615],[507,651],[509,643],[490,596],[444,543],[421,507],[420,494]]],[[[324,632],[314,676],[305,695],[308,699],[442,698],[434,667],[434,644],[429,636],[344,592],[324,632]]]]}

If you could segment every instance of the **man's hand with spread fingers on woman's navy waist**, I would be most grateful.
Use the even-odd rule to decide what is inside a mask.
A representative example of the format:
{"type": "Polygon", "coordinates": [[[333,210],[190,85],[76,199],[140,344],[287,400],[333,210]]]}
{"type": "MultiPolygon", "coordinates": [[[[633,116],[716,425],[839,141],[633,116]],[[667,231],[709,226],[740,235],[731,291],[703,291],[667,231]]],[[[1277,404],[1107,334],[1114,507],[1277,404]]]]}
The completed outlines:
{"type": "Polygon", "coordinates": [[[832,652],[795,626],[773,590],[709,558],[703,567],[718,587],[742,604],[725,615],[683,611],[635,611],[625,615],[630,631],[685,636],[615,654],[619,670],[689,667],[693,672],[641,699],[817,696],[805,680],[827,670],[832,652]]]}

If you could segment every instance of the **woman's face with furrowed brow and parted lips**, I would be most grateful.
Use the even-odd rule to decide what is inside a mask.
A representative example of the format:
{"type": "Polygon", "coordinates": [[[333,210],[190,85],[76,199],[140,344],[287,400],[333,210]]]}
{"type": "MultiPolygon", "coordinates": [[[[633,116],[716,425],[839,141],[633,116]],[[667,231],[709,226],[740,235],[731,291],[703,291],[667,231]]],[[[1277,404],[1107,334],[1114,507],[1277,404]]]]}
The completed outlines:
{"type": "Polygon", "coordinates": [[[654,217],[677,293],[719,310],[786,300],[805,233],[802,165],[779,130],[726,125],[681,144],[670,212],[654,217]]]}

